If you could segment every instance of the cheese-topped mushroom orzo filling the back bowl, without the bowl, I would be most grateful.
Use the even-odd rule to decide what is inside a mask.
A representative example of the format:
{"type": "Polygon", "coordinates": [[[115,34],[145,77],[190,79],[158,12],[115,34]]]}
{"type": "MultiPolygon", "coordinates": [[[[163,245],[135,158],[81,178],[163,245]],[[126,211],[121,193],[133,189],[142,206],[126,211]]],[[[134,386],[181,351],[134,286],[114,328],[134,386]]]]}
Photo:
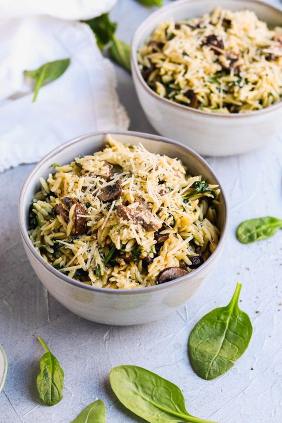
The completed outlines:
{"type": "Polygon", "coordinates": [[[161,22],[137,60],[150,88],[188,107],[242,113],[281,100],[282,28],[250,10],[161,22]]]}

